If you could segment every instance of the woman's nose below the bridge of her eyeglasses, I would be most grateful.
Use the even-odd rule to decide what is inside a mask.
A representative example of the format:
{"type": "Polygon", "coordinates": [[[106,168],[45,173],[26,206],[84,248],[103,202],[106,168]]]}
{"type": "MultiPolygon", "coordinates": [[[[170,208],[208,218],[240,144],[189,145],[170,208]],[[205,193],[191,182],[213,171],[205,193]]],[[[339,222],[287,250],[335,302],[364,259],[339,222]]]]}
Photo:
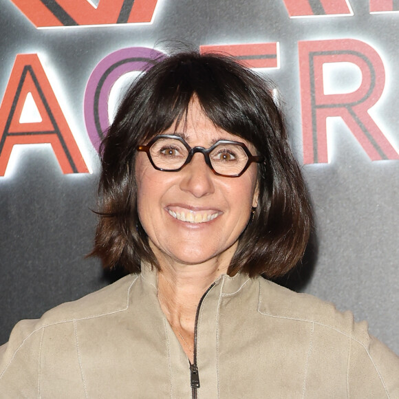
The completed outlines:
{"type": "Polygon", "coordinates": [[[197,198],[204,197],[215,191],[213,185],[214,174],[206,164],[202,153],[195,153],[191,162],[184,166],[180,188],[193,194],[197,198]]]}

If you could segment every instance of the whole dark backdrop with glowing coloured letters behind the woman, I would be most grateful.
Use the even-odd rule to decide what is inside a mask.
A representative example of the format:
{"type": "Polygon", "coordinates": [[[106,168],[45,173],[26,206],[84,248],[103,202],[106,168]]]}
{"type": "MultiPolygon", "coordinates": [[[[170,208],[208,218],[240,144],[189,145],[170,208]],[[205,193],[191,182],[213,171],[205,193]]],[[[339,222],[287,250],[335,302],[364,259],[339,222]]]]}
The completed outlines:
{"type": "Polygon", "coordinates": [[[399,352],[397,0],[0,0],[0,343],[117,279],[93,242],[98,141],[170,44],[277,83],[316,233],[280,282],[352,310],[399,352]]]}

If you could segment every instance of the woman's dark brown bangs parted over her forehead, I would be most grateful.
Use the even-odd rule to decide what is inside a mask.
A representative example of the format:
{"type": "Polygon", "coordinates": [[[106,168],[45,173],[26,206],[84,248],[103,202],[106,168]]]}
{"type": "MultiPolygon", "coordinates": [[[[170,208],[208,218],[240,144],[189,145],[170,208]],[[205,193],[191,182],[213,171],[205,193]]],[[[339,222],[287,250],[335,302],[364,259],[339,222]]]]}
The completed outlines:
{"type": "MultiPolygon", "coordinates": [[[[259,148],[259,120],[264,118],[259,118],[261,107],[254,103],[254,96],[241,76],[234,69],[226,69],[225,63],[218,65],[218,58],[210,57],[208,63],[196,61],[186,60],[163,73],[157,71],[158,65],[155,65],[142,76],[143,84],[153,86],[147,101],[149,109],[144,113],[147,118],[142,120],[142,139],[148,142],[173,124],[176,129],[184,127],[190,104],[198,100],[204,115],[215,127],[259,148]],[[160,75],[162,79],[158,78],[160,75]]],[[[233,63],[233,67],[237,69],[237,64],[233,63]]]]}

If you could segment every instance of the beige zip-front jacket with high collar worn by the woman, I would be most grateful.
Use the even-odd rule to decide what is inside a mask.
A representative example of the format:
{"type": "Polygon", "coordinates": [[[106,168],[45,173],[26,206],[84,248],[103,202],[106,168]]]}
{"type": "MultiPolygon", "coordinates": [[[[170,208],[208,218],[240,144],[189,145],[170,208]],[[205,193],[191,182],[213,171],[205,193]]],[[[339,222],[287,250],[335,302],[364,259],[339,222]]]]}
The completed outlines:
{"type": "MultiPolygon", "coordinates": [[[[399,398],[399,358],[349,312],[260,277],[226,275],[197,323],[197,397],[399,398]]],[[[0,347],[0,398],[191,398],[188,358],[130,275],[21,321],[0,347]]]]}

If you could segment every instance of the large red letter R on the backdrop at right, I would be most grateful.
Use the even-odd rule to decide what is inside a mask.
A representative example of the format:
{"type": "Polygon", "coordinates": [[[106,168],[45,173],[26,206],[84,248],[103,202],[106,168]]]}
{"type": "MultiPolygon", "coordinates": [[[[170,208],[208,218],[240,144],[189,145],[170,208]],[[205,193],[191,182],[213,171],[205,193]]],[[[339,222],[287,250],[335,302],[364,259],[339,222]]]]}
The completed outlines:
{"type": "Polygon", "coordinates": [[[368,110],[385,85],[385,69],[376,50],[363,41],[338,39],[300,41],[303,162],[328,162],[326,118],[341,116],[371,160],[397,160],[398,153],[368,110]],[[324,94],[323,64],[354,63],[362,72],[360,87],[347,94],[324,94]]]}

